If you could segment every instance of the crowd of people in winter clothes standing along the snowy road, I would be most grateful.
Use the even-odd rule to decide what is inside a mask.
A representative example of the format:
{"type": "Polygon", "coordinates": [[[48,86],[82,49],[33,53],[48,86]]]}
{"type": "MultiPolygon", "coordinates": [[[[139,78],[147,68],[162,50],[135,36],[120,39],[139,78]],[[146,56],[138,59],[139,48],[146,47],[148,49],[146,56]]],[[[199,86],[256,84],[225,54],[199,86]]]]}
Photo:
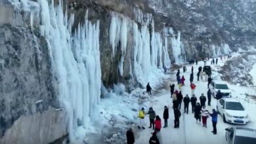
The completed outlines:
{"type": "MultiPolygon", "coordinates": [[[[231,58],[231,56],[228,56],[228,58],[231,58]]],[[[221,60],[223,58],[221,57],[221,60]]],[[[205,61],[209,61],[209,58],[203,58],[203,62],[205,61]]],[[[209,84],[211,84],[212,78],[210,75],[207,75],[205,72],[202,71],[202,66],[198,67],[198,73],[197,73],[197,80],[200,81],[200,77],[201,80],[203,80],[203,78],[205,77],[205,81],[207,80],[207,97],[204,96],[204,94],[201,94],[201,96],[199,97],[199,99],[195,96],[195,90],[196,90],[196,84],[194,84],[194,60],[190,61],[190,63],[192,64],[191,67],[191,73],[190,73],[190,88],[191,88],[191,98],[188,96],[188,94],[186,94],[186,96],[183,97],[182,95],[182,86],[185,86],[185,77],[184,75],[182,75],[182,77],[180,76],[181,72],[180,69],[177,69],[177,74],[176,74],[176,78],[177,78],[177,84],[178,87],[177,90],[175,90],[175,84],[170,84],[170,91],[171,91],[171,98],[173,99],[173,114],[174,114],[174,128],[179,128],[180,126],[180,121],[179,118],[181,117],[181,105],[182,105],[182,101],[184,103],[184,113],[188,114],[188,110],[189,110],[189,104],[191,103],[191,110],[192,113],[194,114],[194,118],[196,119],[196,122],[202,122],[202,126],[207,128],[207,118],[211,117],[211,122],[213,124],[213,134],[217,134],[217,111],[215,111],[215,109],[212,109],[212,113],[210,113],[208,111],[208,109],[206,108],[206,101],[207,101],[207,105],[211,106],[211,90],[209,89],[209,84]],[[179,91],[178,91],[179,89],[179,91]]],[[[217,64],[218,63],[218,58],[216,59],[212,59],[211,60],[211,64],[217,64]]],[[[198,65],[198,60],[196,60],[196,65],[198,65]]],[[[187,71],[186,66],[183,66],[183,73],[185,73],[187,71]]],[[[166,73],[166,69],[165,69],[165,73],[166,73]]],[[[148,83],[146,86],[146,92],[148,92],[148,94],[152,94],[152,88],[150,86],[150,84],[148,83]]],[[[216,98],[217,99],[221,99],[222,98],[222,94],[220,91],[217,92],[216,94],[216,98]]],[[[153,110],[152,107],[149,108],[148,112],[146,113],[144,111],[144,108],[142,107],[142,109],[140,109],[139,111],[139,129],[145,129],[144,127],[144,118],[146,117],[146,115],[148,115],[149,117],[149,127],[148,128],[152,128],[152,130],[154,130],[154,132],[152,132],[152,137],[150,137],[149,143],[161,143],[161,118],[159,115],[156,115],[155,111],[153,110]]],[[[167,107],[166,105],[163,107],[163,120],[164,120],[164,126],[163,128],[167,128],[168,126],[168,119],[169,119],[169,107],[167,107]]],[[[127,131],[127,143],[135,143],[134,140],[134,135],[131,129],[129,129],[127,131]]]]}

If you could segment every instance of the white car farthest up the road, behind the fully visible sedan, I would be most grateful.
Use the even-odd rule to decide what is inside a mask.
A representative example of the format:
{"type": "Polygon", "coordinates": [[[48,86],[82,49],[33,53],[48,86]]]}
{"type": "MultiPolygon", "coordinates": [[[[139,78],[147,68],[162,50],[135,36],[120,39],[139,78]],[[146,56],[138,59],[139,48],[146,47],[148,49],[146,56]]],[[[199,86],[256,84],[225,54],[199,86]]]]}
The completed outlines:
{"type": "Polygon", "coordinates": [[[218,90],[221,91],[223,97],[230,97],[231,90],[228,88],[228,85],[224,81],[212,81],[211,84],[209,84],[209,88],[214,98],[216,98],[218,90]]]}

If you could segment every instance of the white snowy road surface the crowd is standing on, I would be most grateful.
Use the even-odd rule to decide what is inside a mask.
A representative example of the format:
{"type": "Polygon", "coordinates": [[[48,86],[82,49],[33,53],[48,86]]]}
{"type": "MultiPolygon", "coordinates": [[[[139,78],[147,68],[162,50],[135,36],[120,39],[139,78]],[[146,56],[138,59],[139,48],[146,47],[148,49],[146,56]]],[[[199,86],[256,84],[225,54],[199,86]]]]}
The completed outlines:
{"type": "MultiPolygon", "coordinates": [[[[223,63],[220,63],[223,65],[223,63]]],[[[206,81],[197,81],[196,73],[198,72],[198,67],[202,65],[202,62],[199,62],[198,65],[194,65],[194,83],[196,84],[196,90],[195,94],[196,97],[199,100],[199,97],[203,93],[207,97],[207,82],[206,81]],[[195,81],[196,80],[196,81],[195,81]]],[[[184,75],[186,81],[185,86],[182,86],[182,95],[185,96],[188,94],[188,96],[191,96],[191,90],[190,90],[190,82],[189,82],[189,75],[191,73],[191,65],[187,66],[188,71],[186,73],[182,73],[181,69],[181,76],[184,75]]],[[[217,69],[217,66],[213,67],[213,69],[217,69]]],[[[219,75],[218,73],[215,73],[215,75],[219,75]]],[[[173,75],[172,77],[175,77],[173,75]]],[[[175,79],[175,78],[174,78],[175,79]]],[[[218,79],[218,78],[217,78],[218,79]]],[[[171,84],[173,82],[170,82],[171,84]]],[[[169,84],[170,84],[169,83],[169,84]]],[[[176,84],[175,89],[177,88],[177,82],[174,82],[176,84]]],[[[168,84],[168,85],[169,85],[168,84]]],[[[167,86],[165,86],[167,87],[167,86]]],[[[232,86],[234,91],[236,91],[237,86],[232,86]]],[[[236,92],[234,92],[236,94],[236,92]]],[[[234,95],[232,95],[234,96],[234,95]]],[[[207,103],[207,101],[206,101],[207,103]]],[[[211,109],[216,109],[216,103],[217,100],[211,98],[211,106],[207,106],[207,109],[211,112],[211,109]]],[[[221,115],[218,115],[218,122],[217,122],[217,135],[213,135],[211,131],[213,130],[211,118],[207,118],[207,128],[204,128],[202,126],[202,123],[196,122],[196,119],[194,118],[194,114],[192,114],[191,105],[189,105],[189,113],[184,114],[184,106],[182,102],[181,107],[181,113],[182,116],[180,118],[180,128],[176,129],[174,127],[174,115],[173,115],[173,109],[172,109],[172,99],[170,98],[169,89],[163,90],[161,94],[158,94],[157,96],[152,95],[152,103],[148,105],[148,107],[153,107],[154,111],[156,111],[156,115],[160,115],[162,126],[163,126],[163,107],[164,105],[169,106],[169,119],[168,119],[168,127],[161,129],[161,137],[162,137],[162,143],[163,144],[172,144],[172,143],[207,143],[207,144],[216,144],[216,143],[226,143],[225,139],[225,128],[229,126],[234,126],[233,124],[226,124],[223,122],[223,117],[221,115]]],[[[255,105],[254,105],[255,107],[255,105]]],[[[147,110],[146,110],[147,111],[147,110]]],[[[253,114],[252,114],[253,115],[253,114]]],[[[252,120],[255,121],[255,120],[252,120]]],[[[149,126],[149,118],[146,116],[146,130],[139,130],[139,136],[137,137],[135,143],[141,144],[141,143],[148,143],[148,140],[151,137],[151,133],[153,132],[152,129],[148,128],[149,126]]],[[[246,127],[255,126],[255,122],[251,122],[246,127]]]]}

